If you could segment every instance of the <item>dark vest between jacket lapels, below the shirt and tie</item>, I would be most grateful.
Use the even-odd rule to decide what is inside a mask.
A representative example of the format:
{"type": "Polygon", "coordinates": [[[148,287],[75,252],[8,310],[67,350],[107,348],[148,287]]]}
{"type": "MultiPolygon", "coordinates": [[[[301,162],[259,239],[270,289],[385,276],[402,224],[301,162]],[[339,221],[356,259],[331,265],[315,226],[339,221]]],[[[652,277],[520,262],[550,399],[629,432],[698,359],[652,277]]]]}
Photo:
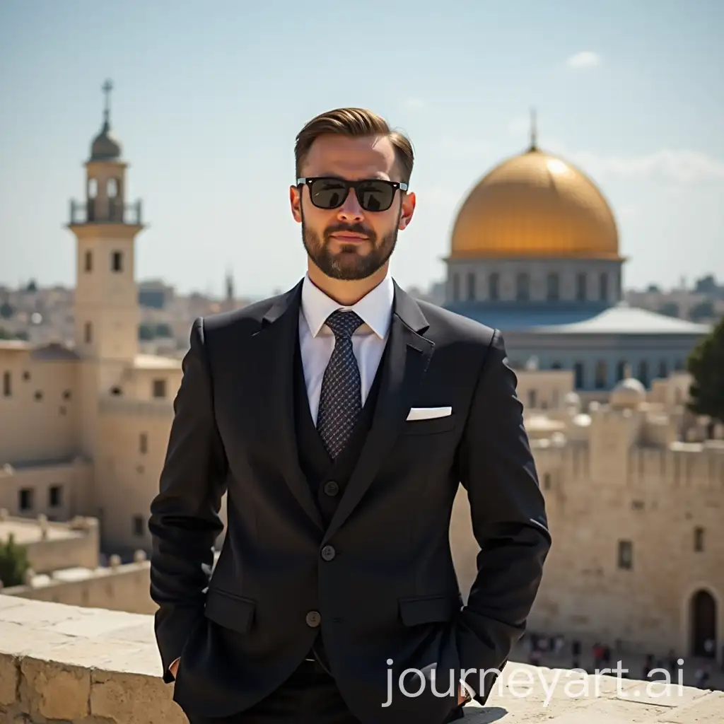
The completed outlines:
{"type": "Polygon", "coordinates": [[[322,520],[329,525],[334,511],[345,491],[347,481],[350,479],[357,460],[362,452],[367,433],[372,425],[374,408],[377,403],[379,384],[382,379],[384,359],[387,356],[385,345],[382,359],[379,361],[377,374],[374,376],[369,395],[350,437],[350,441],[336,460],[327,454],[324,443],[319,437],[309,411],[306,383],[299,340],[295,345],[294,359],[294,399],[295,399],[295,429],[297,434],[297,448],[299,451],[299,464],[311,487],[312,494],[317,502],[322,520]]]}

